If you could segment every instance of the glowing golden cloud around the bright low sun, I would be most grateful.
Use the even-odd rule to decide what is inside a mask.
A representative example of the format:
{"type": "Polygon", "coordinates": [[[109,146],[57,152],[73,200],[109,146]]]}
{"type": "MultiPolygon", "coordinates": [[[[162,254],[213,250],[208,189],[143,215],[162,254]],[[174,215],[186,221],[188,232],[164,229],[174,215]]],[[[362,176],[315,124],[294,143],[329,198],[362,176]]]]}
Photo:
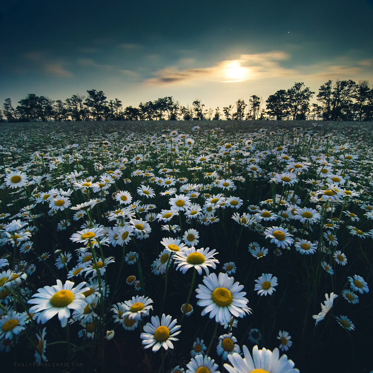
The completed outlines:
{"type": "MultiPolygon", "coordinates": [[[[191,81],[244,82],[278,76],[291,76],[297,70],[286,69],[278,61],[289,59],[282,51],[269,53],[241,54],[239,59],[225,60],[216,66],[179,70],[169,66],[154,72],[155,78],[147,79],[148,84],[187,84],[191,81]]],[[[194,62],[194,59],[181,59],[179,63],[194,62]]]]}

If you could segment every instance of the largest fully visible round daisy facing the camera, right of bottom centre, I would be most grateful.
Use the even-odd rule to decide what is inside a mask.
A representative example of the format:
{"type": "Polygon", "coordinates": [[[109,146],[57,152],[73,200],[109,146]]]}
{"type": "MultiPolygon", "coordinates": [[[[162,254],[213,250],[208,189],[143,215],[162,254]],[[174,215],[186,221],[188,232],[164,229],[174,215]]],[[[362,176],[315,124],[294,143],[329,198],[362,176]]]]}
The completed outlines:
{"type": "Polygon", "coordinates": [[[215,273],[204,276],[203,283],[198,285],[196,298],[200,299],[197,304],[205,307],[202,316],[210,313],[210,319],[215,316],[216,322],[229,323],[231,313],[236,317],[244,317],[250,313],[247,307],[248,300],[244,298],[246,292],[241,292],[244,285],[234,282],[233,277],[228,277],[226,273],[219,273],[219,278],[215,273]]]}

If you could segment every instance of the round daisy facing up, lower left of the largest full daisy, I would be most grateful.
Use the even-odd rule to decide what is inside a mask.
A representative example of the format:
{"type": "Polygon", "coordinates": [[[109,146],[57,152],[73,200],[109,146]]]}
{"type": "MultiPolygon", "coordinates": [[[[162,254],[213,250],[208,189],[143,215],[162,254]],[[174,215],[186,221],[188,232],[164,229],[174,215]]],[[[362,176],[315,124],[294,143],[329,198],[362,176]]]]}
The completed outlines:
{"type": "Polygon", "coordinates": [[[170,315],[162,315],[162,319],[159,322],[159,317],[152,316],[151,323],[147,323],[143,330],[145,333],[141,333],[140,338],[143,339],[142,344],[145,345],[145,348],[152,347],[154,352],[158,351],[161,347],[165,350],[168,348],[173,348],[171,341],[178,341],[178,338],[175,338],[181,330],[180,325],[176,325],[176,319],[171,321],[172,317],[170,315]],[[176,331],[179,330],[179,331],[176,331]]]}

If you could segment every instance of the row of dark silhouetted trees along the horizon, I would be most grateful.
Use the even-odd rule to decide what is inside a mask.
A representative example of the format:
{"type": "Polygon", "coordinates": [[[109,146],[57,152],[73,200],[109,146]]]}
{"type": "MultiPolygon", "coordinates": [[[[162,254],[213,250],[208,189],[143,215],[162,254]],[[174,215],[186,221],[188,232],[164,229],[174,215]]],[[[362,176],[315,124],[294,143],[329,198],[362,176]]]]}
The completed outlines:
{"type": "Polygon", "coordinates": [[[373,121],[373,86],[369,81],[337,79],[321,85],[316,95],[319,103],[310,104],[315,92],[296,82],[288,90],[278,90],[265,101],[257,95],[248,102],[239,98],[235,105],[207,109],[200,99],[185,107],[171,97],[140,102],[138,107],[123,108],[122,101],[107,101],[103,91],[89,90],[62,100],[51,100],[29,93],[14,108],[6,98],[0,120],[8,122],[88,121],[88,120],[359,120],[373,121]]]}

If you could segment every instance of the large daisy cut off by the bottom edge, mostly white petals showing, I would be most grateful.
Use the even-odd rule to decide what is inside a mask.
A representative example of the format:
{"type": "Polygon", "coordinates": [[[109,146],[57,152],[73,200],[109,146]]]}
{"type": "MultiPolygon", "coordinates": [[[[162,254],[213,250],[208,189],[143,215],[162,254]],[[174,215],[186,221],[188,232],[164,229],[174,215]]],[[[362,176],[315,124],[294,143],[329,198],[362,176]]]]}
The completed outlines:
{"type": "Polygon", "coordinates": [[[281,358],[278,348],[275,348],[272,352],[263,348],[258,350],[258,346],[253,347],[253,357],[244,345],[242,346],[244,352],[244,358],[239,354],[233,353],[228,355],[229,363],[224,364],[226,370],[229,373],[299,373],[298,369],[294,368],[292,360],[288,360],[286,355],[282,355],[281,358]]]}

